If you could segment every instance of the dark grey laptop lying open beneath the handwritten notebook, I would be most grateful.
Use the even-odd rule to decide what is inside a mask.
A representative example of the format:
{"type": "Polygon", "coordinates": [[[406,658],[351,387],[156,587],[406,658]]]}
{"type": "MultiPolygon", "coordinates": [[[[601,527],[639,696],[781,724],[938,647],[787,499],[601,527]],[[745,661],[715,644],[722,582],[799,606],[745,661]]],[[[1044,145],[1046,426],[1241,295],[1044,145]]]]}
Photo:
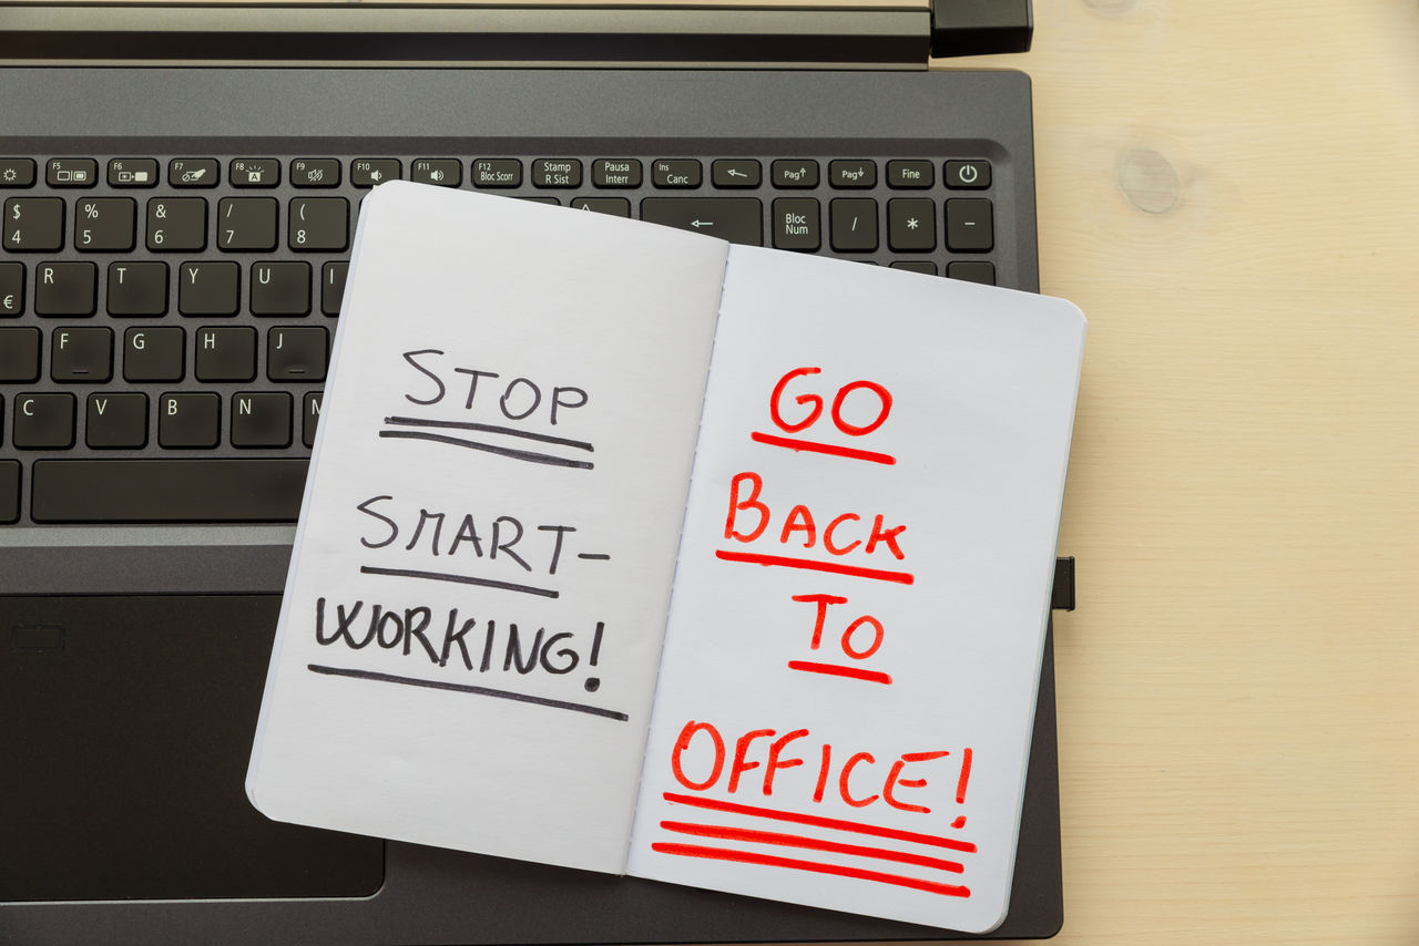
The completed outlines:
{"type": "MultiPolygon", "coordinates": [[[[1036,291],[1029,79],[925,68],[1027,48],[1029,4],[0,4],[0,942],[952,937],[243,791],[360,199],[397,177],[1036,291]]],[[[1047,648],[993,937],[1063,919],[1053,686],[1047,648]]]]}

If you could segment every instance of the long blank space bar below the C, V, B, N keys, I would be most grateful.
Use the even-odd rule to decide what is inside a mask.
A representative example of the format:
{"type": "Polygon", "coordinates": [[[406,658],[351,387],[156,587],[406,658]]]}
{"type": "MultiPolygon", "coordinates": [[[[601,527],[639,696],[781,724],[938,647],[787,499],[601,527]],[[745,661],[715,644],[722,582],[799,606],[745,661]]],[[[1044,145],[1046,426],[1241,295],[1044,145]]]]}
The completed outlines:
{"type": "Polygon", "coordinates": [[[305,460],[40,460],[35,522],[295,522],[305,460]]]}

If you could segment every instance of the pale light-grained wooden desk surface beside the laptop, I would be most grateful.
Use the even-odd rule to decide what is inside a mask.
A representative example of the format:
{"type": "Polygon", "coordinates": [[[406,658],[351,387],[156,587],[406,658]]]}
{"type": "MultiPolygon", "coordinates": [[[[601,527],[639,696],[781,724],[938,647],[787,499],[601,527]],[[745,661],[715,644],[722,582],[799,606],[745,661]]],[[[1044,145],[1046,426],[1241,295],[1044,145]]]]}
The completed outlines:
{"type": "Polygon", "coordinates": [[[1056,942],[1416,943],[1419,4],[1034,10],[989,62],[1090,318],[1056,942]]]}

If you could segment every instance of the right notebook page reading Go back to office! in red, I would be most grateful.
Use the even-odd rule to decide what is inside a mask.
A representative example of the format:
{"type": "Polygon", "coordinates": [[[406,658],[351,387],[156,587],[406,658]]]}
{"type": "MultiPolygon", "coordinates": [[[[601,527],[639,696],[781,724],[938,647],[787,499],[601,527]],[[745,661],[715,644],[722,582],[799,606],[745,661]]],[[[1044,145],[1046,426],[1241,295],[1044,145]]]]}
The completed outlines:
{"type": "Polygon", "coordinates": [[[999,925],[1083,339],[1060,299],[731,248],[629,872],[999,925]],[[766,529],[727,536],[758,529],[748,499],[766,529]],[[824,562],[867,572],[802,567],[824,562]]]}

